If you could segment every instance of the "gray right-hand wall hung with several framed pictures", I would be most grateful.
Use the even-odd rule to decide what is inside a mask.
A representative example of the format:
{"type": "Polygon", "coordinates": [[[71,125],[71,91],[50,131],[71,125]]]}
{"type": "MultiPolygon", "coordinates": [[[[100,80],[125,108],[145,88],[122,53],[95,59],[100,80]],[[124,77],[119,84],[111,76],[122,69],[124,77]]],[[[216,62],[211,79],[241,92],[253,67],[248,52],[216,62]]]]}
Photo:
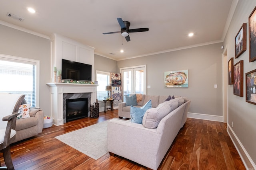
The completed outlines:
{"type": "Polygon", "coordinates": [[[246,79],[245,73],[256,69],[256,61],[249,63],[249,36],[248,36],[248,17],[256,6],[255,0],[239,0],[236,11],[232,18],[228,33],[224,40],[224,48],[227,49],[227,60],[234,58],[234,39],[243,23],[247,23],[247,50],[237,59],[234,58],[234,64],[238,61],[244,61],[244,97],[233,94],[233,85],[228,85],[228,124],[233,128],[238,140],[242,143],[250,157],[256,162],[256,105],[246,101],[246,79]]]}

